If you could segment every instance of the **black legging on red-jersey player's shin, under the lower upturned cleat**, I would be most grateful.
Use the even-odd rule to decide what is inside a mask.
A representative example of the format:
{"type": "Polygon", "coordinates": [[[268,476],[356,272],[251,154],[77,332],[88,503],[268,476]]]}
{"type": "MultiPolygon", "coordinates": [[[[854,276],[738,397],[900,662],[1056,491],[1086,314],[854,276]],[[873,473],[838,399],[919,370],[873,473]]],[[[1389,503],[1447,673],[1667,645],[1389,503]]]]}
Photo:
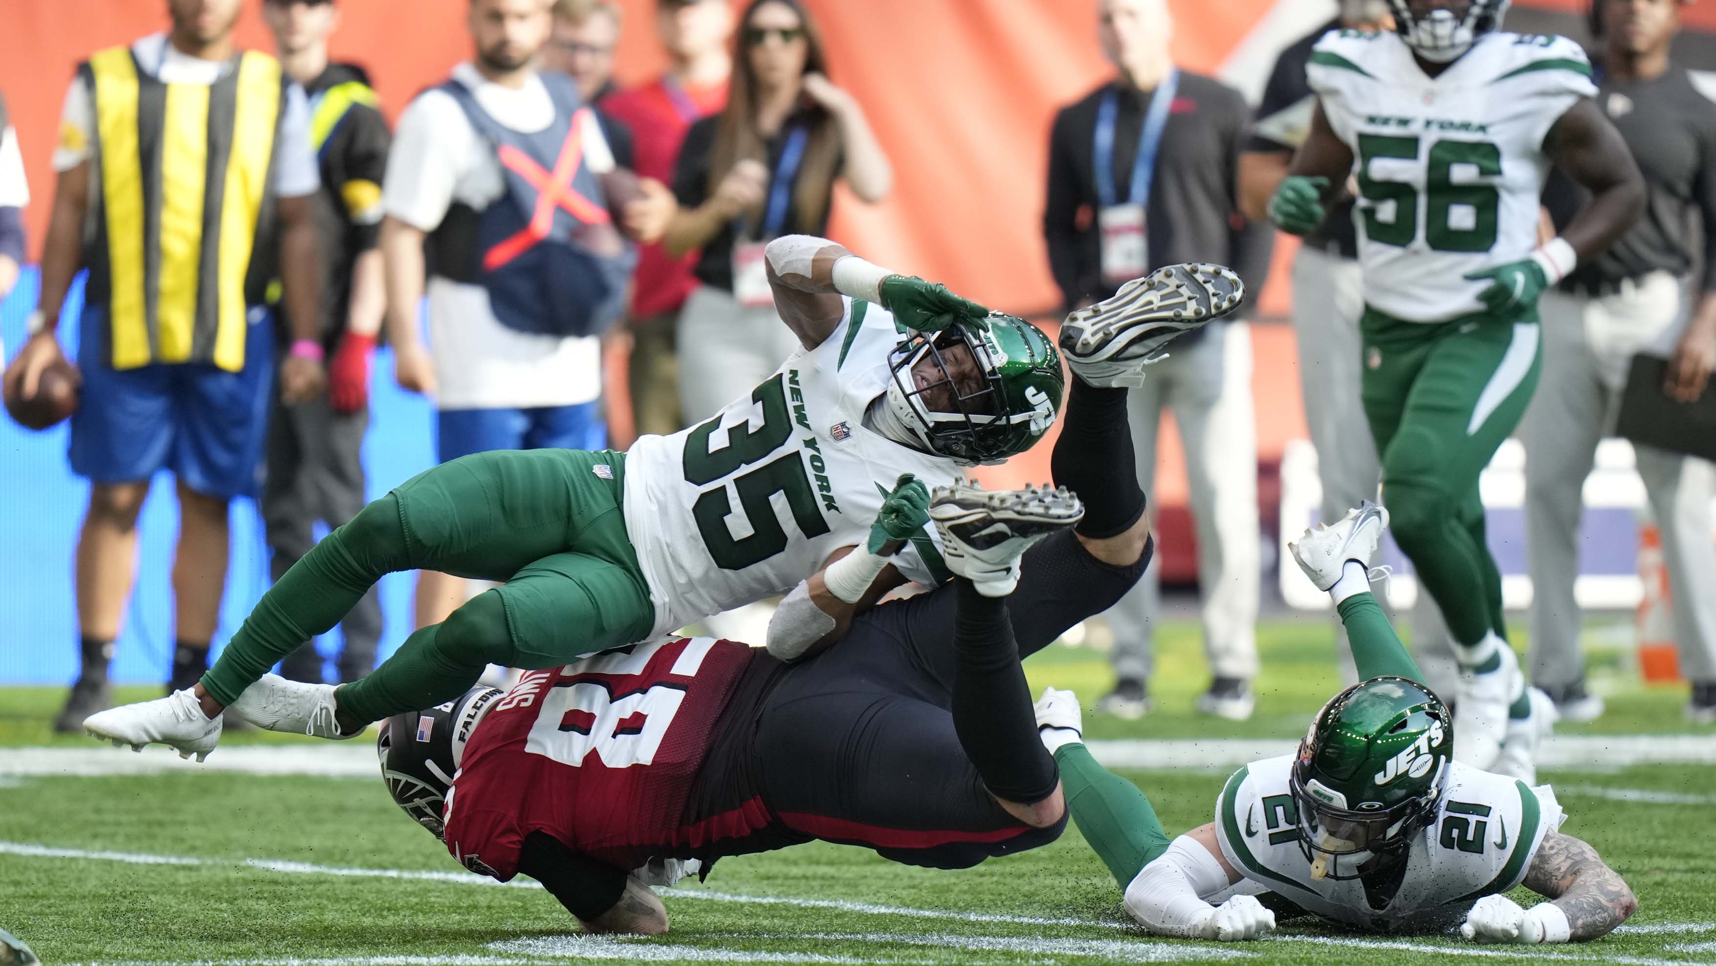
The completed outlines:
{"type": "Polygon", "coordinates": [[[1035,805],[1055,791],[1060,772],[1036,738],[1031,686],[1019,666],[1004,597],[983,597],[958,578],[952,715],[959,746],[995,798],[1035,805]]]}

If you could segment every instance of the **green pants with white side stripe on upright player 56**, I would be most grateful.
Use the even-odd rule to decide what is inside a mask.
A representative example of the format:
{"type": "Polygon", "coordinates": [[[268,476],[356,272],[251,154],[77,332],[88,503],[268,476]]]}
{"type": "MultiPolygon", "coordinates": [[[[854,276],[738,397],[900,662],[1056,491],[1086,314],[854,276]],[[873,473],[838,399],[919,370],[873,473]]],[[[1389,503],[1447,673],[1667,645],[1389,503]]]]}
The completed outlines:
{"type": "Polygon", "coordinates": [[[1477,643],[1491,630],[1505,638],[1477,475],[1538,388],[1538,311],[1421,324],[1366,307],[1359,329],[1364,415],[1395,542],[1453,640],[1477,643]]]}

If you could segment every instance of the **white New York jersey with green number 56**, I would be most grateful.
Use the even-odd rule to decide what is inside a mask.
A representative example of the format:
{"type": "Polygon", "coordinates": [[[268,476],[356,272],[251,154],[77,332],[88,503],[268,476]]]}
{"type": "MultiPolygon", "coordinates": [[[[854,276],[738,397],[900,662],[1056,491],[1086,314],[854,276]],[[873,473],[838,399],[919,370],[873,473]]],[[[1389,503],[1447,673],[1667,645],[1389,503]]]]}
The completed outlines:
{"type": "Polygon", "coordinates": [[[1489,33],[1429,77],[1395,33],[1330,31],[1306,67],[1352,149],[1364,300],[1414,323],[1483,311],[1472,271],[1531,256],[1550,172],[1543,141],[1591,63],[1560,36],[1489,33]]]}

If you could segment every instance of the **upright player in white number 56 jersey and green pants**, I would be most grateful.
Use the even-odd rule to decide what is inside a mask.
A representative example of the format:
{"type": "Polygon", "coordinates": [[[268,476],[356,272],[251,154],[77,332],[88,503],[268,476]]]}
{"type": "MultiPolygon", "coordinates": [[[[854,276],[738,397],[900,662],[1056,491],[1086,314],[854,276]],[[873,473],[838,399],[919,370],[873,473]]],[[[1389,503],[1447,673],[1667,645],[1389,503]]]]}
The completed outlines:
{"type": "Polygon", "coordinates": [[[1507,5],[1388,0],[1395,31],[1325,34],[1306,69],[1311,132],[1270,202],[1280,228],[1308,233],[1356,184],[1364,414],[1395,540],[1462,666],[1455,758],[1481,769],[1532,705],[1503,643],[1477,475],[1538,384],[1538,295],[1644,202],[1627,144],[1591,100],[1584,51],[1500,33],[1507,5]],[[1539,245],[1551,163],[1591,201],[1539,245]]]}

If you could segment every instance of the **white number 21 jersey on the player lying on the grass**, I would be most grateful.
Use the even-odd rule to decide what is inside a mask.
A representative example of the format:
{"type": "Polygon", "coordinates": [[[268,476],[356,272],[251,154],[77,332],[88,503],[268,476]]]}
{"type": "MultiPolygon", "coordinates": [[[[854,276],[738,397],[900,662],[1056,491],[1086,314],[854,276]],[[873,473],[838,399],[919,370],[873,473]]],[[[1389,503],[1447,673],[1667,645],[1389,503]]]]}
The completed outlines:
{"type": "Polygon", "coordinates": [[[1412,837],[1400,887],[1375,908],[1357,878],[1311,878],[1299,851],[1299,805],[1287,786],[1296,757],[1234,772],[1215,803],[1215,834],[1246,878],[1349,927],[1424,932],[1457,923],[1479,897],[1519,885],[1543,836],[1565,818],[1546,784],[1527,788],[1452,764],[1435,822],[1412,837]]]}

